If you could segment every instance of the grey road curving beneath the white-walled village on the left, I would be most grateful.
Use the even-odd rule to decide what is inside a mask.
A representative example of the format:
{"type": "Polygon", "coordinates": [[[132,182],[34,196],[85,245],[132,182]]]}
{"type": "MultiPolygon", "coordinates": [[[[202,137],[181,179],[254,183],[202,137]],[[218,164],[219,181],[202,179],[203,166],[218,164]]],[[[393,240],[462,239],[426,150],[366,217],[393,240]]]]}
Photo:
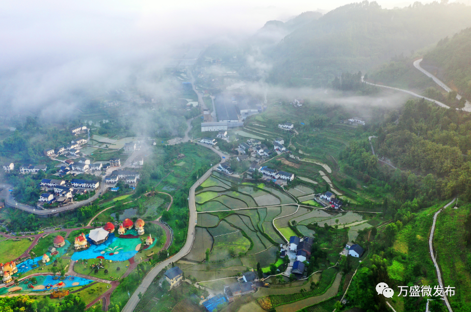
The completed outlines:
{"type": "MultiPolygon", "coordinates": [[[[141,151],[135,151],[120,167],[110,167],[110,168],[108,168],[106,174],[111,173],[113,170],[122,169],[122,168],[125,168],[125,167],[129,166],[130,164],[132,164],[133,160],[136,157],[142,156],[145,153],[146,153],[146,149],[142,149],[141,151]]],[[[91,196],[90,199],[87,199],[85,201],[76,202],[74,204],[63,206],[63,207],[56,207],[52,210],[56,210],[55,213],[60,213],[60,212],[64,212],[64,211],[74,210],[75,208],[87,205],[87,203],[89,203],[89,202],[90,203],[93,202],[102,193],[106,192],[106,190],[108,188],[108,186],[106,185],[106,181],[104,180],[105,177],[106,177],[106,175],[104,175],[101,178],[100,186],[95,190],[95,194],[93,196],[91,196]]],[[[4,184],[2,186],[5,187],[5,189],[2,191],[0,196],[2,198],[5,198],[5,202],[6,202],[7,205],[12,206],[12,207],[16,207],[20,210],[23,210],[23,211],[26,211],[26,212],[29,212],[29,213],[34,213],[34,214],[37,214],[37,215],[49,215],[49,214],[51,214],[51,209],[46,209],[46,210],[35,209],[34,207],[17,203],[15,201],[15,197],[13,197],[13,195],[8,191],[9,189],[13,189],[13,187],[11,185],[8,185],[8,184],[4,184]]]]}

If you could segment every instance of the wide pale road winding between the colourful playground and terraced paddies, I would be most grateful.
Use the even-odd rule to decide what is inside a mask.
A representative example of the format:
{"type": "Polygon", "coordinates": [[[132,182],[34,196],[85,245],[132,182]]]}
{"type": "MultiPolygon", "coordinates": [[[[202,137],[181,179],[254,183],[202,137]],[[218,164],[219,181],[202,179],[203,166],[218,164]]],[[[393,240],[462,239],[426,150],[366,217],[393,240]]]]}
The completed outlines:
{"type": "MultiPolygon", "coordinates": [[[[213,150],[215,153],[217,153],[221,157],[221,161],[224,161],[222,158],[223,156],[225,157],[226,155],[222,154],[220,151],[215,150],[213,147],[207,145],[207,144],[200,144],[201,146],[204,146],[206,148],[209,148],[213,150]]],[[[196,202],[195,202],[195,189],[206,180],[211,173],[213,172],[213,169],[215,169],[218,165],[213,166],[210,168],[204,175],[201,176],[201,178],[198,179],[198,181],[193,184],[193,186],[190,188],[190,200],[188,202],[190,206],[190,218],[189,218],[189,224],[188,224],[188,234],[187,234],[187,241],[185,243],[185,246],[180,249],[174,256],[170,257],[167,260],[164,260],[154,268],[152,268],[149,273],[144,277],[144,279],[141,282],[141,285],[137,288],[137,290],[134,292],[134,294],[130,297],[129,301],[127,301],[126,305],[123,307],[121,312],[132,312],[136,308],[137,304],[139,303],[139,293],[144,294],[147,288],[149,287],[150,283],[153,281],[155,276],[157,276],[160,271],[162,271],[166,266],[171,264],[172,262],[178,261],[180,258],[185,257],[191,250],[191,247],[193,246],[193,241],[195,239],[195,225],[196,225],[196,220],[197,220],[197,213],[196,213],[196,202]]]]}

